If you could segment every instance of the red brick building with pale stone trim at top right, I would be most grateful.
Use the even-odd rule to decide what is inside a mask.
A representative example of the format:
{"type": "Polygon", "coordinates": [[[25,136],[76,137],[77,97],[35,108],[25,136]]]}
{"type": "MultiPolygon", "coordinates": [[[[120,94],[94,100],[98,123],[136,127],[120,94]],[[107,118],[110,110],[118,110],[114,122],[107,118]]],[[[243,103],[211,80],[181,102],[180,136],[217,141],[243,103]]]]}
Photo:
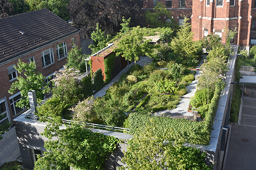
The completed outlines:
{"type": "MultiPolygon", "coordinates": [[[[234,44],[249,49],[256,44],[256,0],[159,0],[177,22],[191,19],[194,39],[215,32],[225,40],[225,28],[236,28],[234,44]]],[[[143,0],[144,9],[153,9],[156,0],[143,0]]],[[[166,19],[168,21],[168,19],[166,19]]]]}

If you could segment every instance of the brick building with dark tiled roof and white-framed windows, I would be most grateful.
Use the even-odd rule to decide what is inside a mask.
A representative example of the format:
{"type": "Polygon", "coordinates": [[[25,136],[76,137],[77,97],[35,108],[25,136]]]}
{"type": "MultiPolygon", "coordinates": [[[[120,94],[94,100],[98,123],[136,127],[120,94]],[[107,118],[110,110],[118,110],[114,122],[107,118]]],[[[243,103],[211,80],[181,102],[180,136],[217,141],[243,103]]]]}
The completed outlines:
{"type": "Polygon", "coordinates": [[[15,106],[20,92],[8,93],[20,76],[13,65],[19,59],[34,61],[43,76],[53,76],[76,45],[80,47],[79,31],[46,8],[0,19],[0,124],[27,110],[15,106]]]}

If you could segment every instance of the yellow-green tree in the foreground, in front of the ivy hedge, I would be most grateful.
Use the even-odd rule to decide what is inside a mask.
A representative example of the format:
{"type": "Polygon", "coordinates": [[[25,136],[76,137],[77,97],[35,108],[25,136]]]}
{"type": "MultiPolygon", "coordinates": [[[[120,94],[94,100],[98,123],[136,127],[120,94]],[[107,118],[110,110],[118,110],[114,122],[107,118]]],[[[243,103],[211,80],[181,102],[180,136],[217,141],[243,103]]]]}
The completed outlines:
{"type": "Polygon", "coordinates": [[[122,158],[128,167],[121,170],[211,170],[204,162],[205,152],[182,146],[185,140],[171,129],[156,133],[157,129],[151,120],[128,141],[122,158]]]}

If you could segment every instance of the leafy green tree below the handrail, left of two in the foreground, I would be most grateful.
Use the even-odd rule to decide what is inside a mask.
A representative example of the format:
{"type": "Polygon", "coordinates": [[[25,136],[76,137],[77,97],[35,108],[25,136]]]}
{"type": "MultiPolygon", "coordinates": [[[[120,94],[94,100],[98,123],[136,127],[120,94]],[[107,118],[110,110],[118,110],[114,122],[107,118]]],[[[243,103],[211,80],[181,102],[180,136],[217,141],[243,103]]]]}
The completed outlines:
{"type": "Polygon", "coordinates": [[[91,132],[78,124],[59,129],[60,124],[46,126],[43,135],[46,152],[35,162],[34,170],[102,170],[118,139],[91,132]]]}

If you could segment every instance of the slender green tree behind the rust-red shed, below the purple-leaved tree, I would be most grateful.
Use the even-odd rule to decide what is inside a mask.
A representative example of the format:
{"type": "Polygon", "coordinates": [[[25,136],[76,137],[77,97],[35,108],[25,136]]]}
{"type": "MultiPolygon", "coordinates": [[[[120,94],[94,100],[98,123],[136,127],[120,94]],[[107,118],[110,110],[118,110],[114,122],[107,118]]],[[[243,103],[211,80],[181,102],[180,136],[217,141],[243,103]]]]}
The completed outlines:
{"type": "Polygon", "coordinates": [[[108,41],[110,40],[110,37],[110,35],[107,35],[107,38],[104,37],[104,31],[101,31],[99,28],[99,23],[97,23],[96,31],[91,33],[91,38],[94,40],[94,44],[89,45],[89,48],[92,49],[92,54],[105,48],[108,41]]]}

